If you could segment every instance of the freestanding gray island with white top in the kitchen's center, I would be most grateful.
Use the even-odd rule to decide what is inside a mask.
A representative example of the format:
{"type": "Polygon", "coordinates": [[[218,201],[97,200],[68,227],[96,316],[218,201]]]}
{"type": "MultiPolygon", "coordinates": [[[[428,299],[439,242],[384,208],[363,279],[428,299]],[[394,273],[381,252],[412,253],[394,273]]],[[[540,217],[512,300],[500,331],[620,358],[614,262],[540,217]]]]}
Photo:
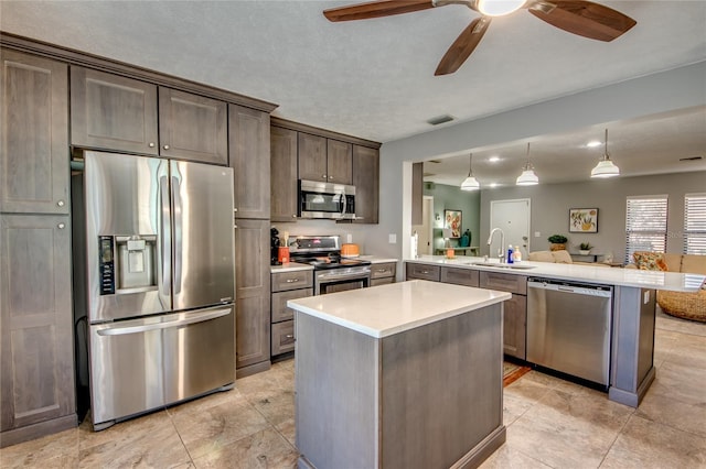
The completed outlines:
{"type": "Polygon", "coordinates": [[[299,467],[479,466],[505,441],[510,298],[417,280],[289,301],[299,467]]]}

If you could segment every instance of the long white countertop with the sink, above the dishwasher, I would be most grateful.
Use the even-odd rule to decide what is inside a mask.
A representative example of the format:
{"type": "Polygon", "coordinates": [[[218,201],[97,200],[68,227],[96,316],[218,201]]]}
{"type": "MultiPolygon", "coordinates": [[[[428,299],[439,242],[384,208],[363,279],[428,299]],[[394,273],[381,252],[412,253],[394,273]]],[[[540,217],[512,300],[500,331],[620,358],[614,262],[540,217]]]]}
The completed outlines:
{"type": "MultiPolygon", "coordinates": [[[[449,265],[454,268],[475,269],[479,271],[503,272],[515,275],[544,276],[547,279],[569,280],[598,283],[603,285],[635,286],[639,288],[670,290],[673,292],[697,292],[706,281],[706,275],[684,274],[678,272],[641,271],[638,269],[617,269],[592,265],[557,264],[552,262],[522,261],[521,265],[533,269],[507,269],[469,265],[483,262],[483,258],[459,257],[446,259],[443,255],[421,255],[405,262],[431,265],[449,265]]],[[[498,262],[492,259],[489,262],[498,262]]]]}

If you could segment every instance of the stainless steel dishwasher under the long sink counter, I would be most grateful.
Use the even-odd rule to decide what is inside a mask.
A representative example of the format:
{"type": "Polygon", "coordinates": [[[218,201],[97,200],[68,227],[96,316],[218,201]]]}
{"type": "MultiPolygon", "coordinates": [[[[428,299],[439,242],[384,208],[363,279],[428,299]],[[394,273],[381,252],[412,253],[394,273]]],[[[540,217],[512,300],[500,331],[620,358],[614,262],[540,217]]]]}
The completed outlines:
{"type": "Polygon", "coordinates": [[[527,281],[527,361],[608,385],[612,286],[527,281]]]}

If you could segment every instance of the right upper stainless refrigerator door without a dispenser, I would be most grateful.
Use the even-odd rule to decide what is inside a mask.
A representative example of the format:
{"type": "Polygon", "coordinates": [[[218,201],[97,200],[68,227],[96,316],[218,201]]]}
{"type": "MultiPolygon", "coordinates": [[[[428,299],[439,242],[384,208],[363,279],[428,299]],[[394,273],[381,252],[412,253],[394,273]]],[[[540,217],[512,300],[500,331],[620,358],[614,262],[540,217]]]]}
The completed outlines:
{"type": "Polygon", "coordinates": [[[233,170],[171,162],[173,309],[235,296],[233,170]]]}

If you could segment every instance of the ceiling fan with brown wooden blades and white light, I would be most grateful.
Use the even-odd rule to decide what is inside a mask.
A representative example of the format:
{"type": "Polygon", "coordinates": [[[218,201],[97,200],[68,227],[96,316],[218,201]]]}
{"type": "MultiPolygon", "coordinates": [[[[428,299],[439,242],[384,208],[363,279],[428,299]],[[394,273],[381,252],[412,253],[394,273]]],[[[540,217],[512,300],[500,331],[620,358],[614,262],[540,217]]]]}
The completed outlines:
{"type": "Polygon", "coordinates": [[[434,75],[458,70],[480,43],[493,17],[512,13],[521,8],[538,19],[584,37],[612,41],[637,24],[623,13],[586,0],[377,0],[324,10],[329,21],[367,20],[428,10],[447,4],[464,4],[481,14],[471,21],[451,44],[434,75]]]}

